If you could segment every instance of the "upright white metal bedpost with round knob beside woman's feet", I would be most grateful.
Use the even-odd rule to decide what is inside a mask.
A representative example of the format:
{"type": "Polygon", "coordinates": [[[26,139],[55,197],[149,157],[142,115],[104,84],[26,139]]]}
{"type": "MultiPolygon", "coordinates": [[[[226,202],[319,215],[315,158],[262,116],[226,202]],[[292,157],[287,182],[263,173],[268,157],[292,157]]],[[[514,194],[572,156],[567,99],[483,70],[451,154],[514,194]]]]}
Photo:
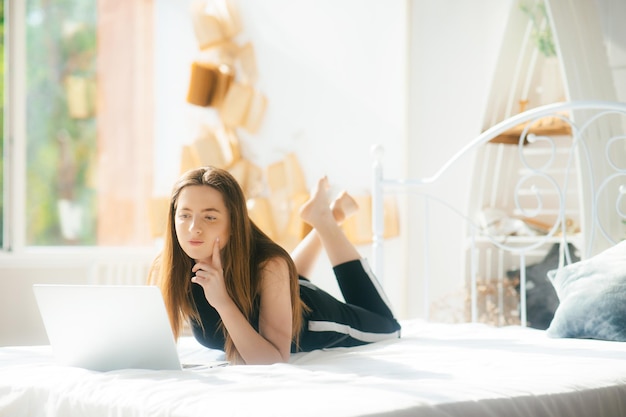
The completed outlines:
{"type": "Polygon", "coordinates": [[[374,145],[371,149],[372,164],[372,269],[382,283],[383,277],[383,164],[384,150],[381,145],[374,145]]]}

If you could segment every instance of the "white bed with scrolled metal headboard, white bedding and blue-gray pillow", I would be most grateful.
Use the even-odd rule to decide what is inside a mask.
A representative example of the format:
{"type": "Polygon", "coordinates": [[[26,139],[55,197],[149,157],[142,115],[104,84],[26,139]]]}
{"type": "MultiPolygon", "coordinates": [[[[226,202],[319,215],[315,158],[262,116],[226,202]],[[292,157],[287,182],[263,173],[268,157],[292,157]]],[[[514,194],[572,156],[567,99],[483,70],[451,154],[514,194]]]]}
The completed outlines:
{"type": "MultiPolygon", "coordinates": [[[[382,276],[383,202],[387,194],[416,194],[421,200],[429,201],[429,206],[441,203],[449,207],[440,196],[432,197],[426,191],[430,186],[436,187],[441,173],[460,157],[485,157],[484,147],[494,144],[494,140],[511,129],[518,135],[518,143],[502,146],[519,151],[513,154],[523,155],[530,149],[529,143],[542,140],[552,149],[553,144],[542,138],[542,134],[527,137],[527,133],[534,131],[535,121],[546,117],[570,126],[565,136],[570,137],[572,152],[562,154],[571,155],[564,158],[565,168],[577,167],[579,180],[574,193],[559,181],[548,179],[557,191],[543,195],[543,186],[528,185],[529,177],[539,175],[546,180],[550,177],[546,172],[553,169],[523,170],[517,182],[527,184],[531,200],[541,201],[542,208],[549,206],[553,215],[552,222],[540,219],[541,233],[503,236],[501,227],[485,223],[480,205],[470,206],[464,212],[449,210],[465,224],[462,240],[463,253],[467,256],[458,258],[463,264],[461,269],[467,272],[464,277],[468,287],[467,322],[406,319],[402,320],[400,339],[299,353],[287,364],[183,371],[93,372],[57,365],[49,346],[3,347],[0,348],[0,415],[626,415],[626,339],[623,338],[626,244],[621,243],[622,230],[615,227],[621,225],[626,212],[621,201],[626,190],[619,184],[626,175],[621,168],[626,164],[620,165],[626,143],[626,104],[573,102],[529,110],[486,130],[468,142],[442,170],[422,179],[386,178],[382,152],[377,148],[372,184],[373,267],[382,276]],[[601,120],[604,117],[608,118],[606,123],[601,120]],[[602,162],[607,157],[609,162],[602,162]],[[585,181],[589,178],[591,183],[585,181]],[[583,201],[584,209],[580,204],[568,202],[568,196],[583,201]],[[571,217],[576,218],[579,227],[572,229],[571,217]],[[575,262],[577,258],[570,253],[569,244],[580,248],[580,261],[575,262]],[[493,250],[490,252],[486,246],[493,250]],[[546,246],[558,248],[559,262],[549,275],[560,303],[550,326],[538,329],[528,320],[528,300],[533,290],[529,276],[537,256],[535,252],[542,256],[546,246]],[[506,256],[500,256],[500,251],[506,256]],[[481,285],[489,283],[485,271],[496,267],[506,270],[514,263],[505,261],[512,259],[517,260],[518,266],[513,288],[520,298],[516,307],[519,323],[481,322],[484,307],[481,285]]],[[[513,187],[519,198],[514,198],[516,207],[511,216],[515,215],[514,220],[523,218],[525,224],[536,229],[533,219],[538,216],[532,214],[539,212],[520,207],[524,187],[513,187]]],[[[442,212],[432,207],[418,211],[442,212]]],[[[504,278],[502,274],[496,275],[492,284],[498,288],[504,278]]],[[[222,352],[207,350],[189,337],[179,341],[178,350],[183,363],[222,359],[222,352]]]]}

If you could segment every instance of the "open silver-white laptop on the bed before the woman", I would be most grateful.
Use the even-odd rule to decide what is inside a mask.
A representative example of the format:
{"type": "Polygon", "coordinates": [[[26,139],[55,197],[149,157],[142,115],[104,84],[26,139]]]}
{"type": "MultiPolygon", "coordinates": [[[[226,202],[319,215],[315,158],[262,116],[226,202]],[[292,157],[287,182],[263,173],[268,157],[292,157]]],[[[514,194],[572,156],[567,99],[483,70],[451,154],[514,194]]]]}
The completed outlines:
{"type": "Polygon", "coordinates": [[[60,363],[94,371],[183,369],[158,287],[35,284],[33,290],[60,363]]]}

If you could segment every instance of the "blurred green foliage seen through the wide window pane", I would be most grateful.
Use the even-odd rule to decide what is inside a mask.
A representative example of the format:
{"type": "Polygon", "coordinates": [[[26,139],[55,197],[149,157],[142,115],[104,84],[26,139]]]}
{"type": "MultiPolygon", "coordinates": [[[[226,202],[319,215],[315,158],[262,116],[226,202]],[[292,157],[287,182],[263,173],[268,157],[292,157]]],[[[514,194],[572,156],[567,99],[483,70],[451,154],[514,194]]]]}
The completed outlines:
{"type": "Polygon", "coordinates": [[[95,6],[95,0],[27,0],[28,245],[96,243],[95,88],[90,88],[96,82],[95,6]],[[82,80],[82,94],[68,86],[70,80],[82,80]],[[70,112],[77,94],[90,107],[78,116],[70,112]],[[79,223],[72,233],[63,232],[62,202],[73,207],[66,220],[79,223]]]}

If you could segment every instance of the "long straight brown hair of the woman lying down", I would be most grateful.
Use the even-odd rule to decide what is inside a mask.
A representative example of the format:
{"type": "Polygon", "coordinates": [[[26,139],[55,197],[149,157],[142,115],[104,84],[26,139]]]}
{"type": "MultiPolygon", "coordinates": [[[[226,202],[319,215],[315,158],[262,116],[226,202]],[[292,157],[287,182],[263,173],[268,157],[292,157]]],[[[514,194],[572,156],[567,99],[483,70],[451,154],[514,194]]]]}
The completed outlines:
{"type": "MultiPolygon", "coordinates": [[[[221,253],[226,289],[249,322],[258,317],[263,267],[268,260],[275,257],[285,260],[289,267],[291,286],[292,335],[293,341],[297,343],[302,325],[302,313],[306,307],[300,300],[295,264],[287,251],[272,241],[248,217],[246,199],[235,178],[228,171],[213,167],[188,171],[174,185],[163,251],[155,260],[150,273],[151,282],[161,287],[174,336],[176,338],[180,336],[185,319],[193,319],[201,323],[191,296],[193,284],[189,279],[189,274],[193,267],[193,260],[187,256],[178,243],[174,222],[178,196],[183,188],[191,185],[206,185],[222,194],[224,204],[230,214],[231,232],[221,253]]],[[[222,326],[222,331],[225,338],[226,358],[233,362],[242,362],[224,326],[222,326]]]]}

